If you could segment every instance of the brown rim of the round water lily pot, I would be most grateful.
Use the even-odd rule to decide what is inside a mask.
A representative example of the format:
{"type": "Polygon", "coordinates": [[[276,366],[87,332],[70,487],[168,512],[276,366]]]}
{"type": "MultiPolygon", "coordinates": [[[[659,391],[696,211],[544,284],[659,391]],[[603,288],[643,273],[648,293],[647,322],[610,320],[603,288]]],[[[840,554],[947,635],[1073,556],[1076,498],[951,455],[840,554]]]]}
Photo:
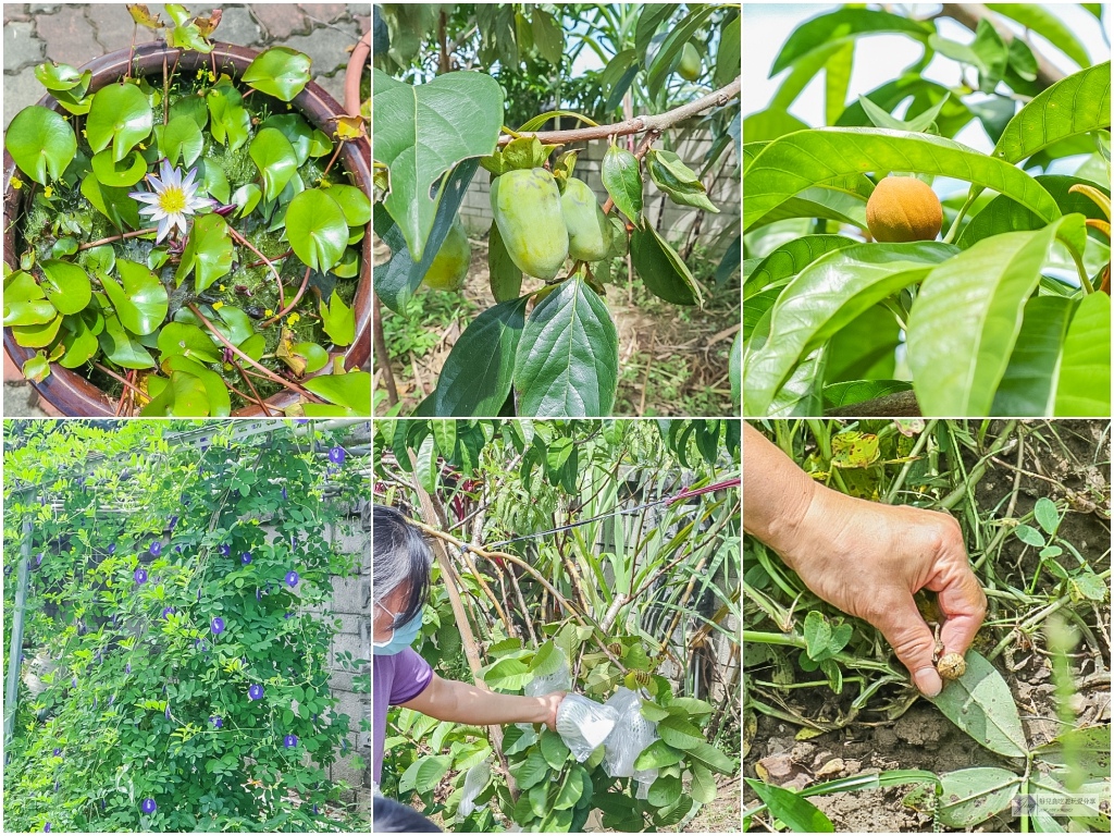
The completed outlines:
{"type": "MultiPolygon", "coordinates": [[[[97,58],[79,68],[79,70],[92,70],[92,80],[89,85],[89,93],[96,93],[101,87],[119,80],[128,68],[128,59],[133,58],[133,68],[136,75],[162,76],[164,61],[166,66],[173,68],[177,64],[178,72],[193,72],[199,67],[212,68],[216,62],[216,70],[222,70],[238,78],[247,66],[258,55],[257,50],[237,47],[231,43],[214,43],[213,52],[203,55],[201,52],[170,49],[162,42],[144,43],[135,48],[134,56],[130,50],[121,49],[117,52],[97,58]]],[[[49,107],[66,115],[61,106],[51,96],[43,96],[39,99],[40,105],[49,107]]],[[[306,120],[316,128],[321,128],[329,136],[335,133],[335,124],[331,117],[343,115],[342,108],[336,100],[325,93],[321,87],[312,81],[297,95],[292,103],[306,120]]],[[[352,185],[362,188],[370,195],[371,193],[371,143],[368,139],[344,143],[341,148],[339,161],[352,175],[352,185]]],[[[17,237],[18,218],[23,205],[23,196],[30,189],[12,188],[11,178],[16,173],[16,163],[11,155],[4,150],[3,155],[3,253],[4,261],[12,269],[19,269],[19,247],[21,243],[17,237]]],[[[360,275],[356,285],[356,294],[353,300],[353,312],[355,314],[355,341],[349,347],[344,354],[344,368],[354,369],[368,363],[371,358],[371,224],[368,224],[363,239],[363,256],[360,262],[360,275]]],[[[11,329],[6,328],[3,333],[4,348],[20,368],[35,356],[33,349],[23,348],[16,342],[11,329]]],[[[58,363],[51,363],[50,375],[42,382],[31,381],[49,404],[57,408],[62,415],[68,416],[113,416],[115,415],[115,404],[110,402],[107,396],[94,386],[87,378],[76,370],[65,369],[58,363]]],[[[283,390],[266,400],[267,406],[274,407],[278,412],[282,408],[290,406],[297,400],[295,392],[283,390]]],[[[368,405],[371,408],[371,405],[368,405]]],[[[252,416],[261,415],[258,406],[246,407],[235,415],[252,416]]]]}

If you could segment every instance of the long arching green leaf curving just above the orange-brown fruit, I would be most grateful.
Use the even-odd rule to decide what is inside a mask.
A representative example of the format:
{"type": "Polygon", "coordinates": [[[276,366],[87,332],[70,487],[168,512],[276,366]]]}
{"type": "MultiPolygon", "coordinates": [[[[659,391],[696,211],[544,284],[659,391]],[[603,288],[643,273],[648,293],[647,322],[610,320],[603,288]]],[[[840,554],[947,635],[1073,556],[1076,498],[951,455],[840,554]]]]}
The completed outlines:
{"type": "Polygon", "coordinates": [[[810,186],[864,171],[941,174],[994,188],[1046,222],[1061,215],[1052,195],[1028,174],[950,139],[882,128],[822,128],[774,139],[758,154],[743,175],[743,229],[810,186]]]}

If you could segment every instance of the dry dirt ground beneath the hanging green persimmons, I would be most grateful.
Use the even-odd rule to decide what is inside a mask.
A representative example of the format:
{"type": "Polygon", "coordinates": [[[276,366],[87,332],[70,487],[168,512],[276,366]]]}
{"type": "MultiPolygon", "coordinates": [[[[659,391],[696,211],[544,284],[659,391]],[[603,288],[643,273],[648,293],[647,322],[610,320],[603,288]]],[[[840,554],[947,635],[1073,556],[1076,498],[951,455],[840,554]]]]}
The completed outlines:
{"type": "MultiPolygon", "coordinates": [[[[403,415],[432,391],[461,331],[479,311],[494,304],[488,280],[487,239],[470,237],[470,242],[471,266],[462,295],[471,303],[473,312],[455,317],[433,349],[423,356],[411,353],[391,358],[403,415]]],[[[390,252],[380,243],[375,263],[389,257],[390,252]]],[[[706,295],[715,298],[715,302],[698,310],[647,299],[645,291],[636,294],[625,274],[613,276],[613,281],[617,283],[605,285],[605,301],[619,337],[619,387],[614,415],[731,415],[734,409],[727,362],[731,343],[740,329],[739,304],[732,304],[737,297],[737,285],[710,290],[706,295]]],[[[524,293],[541,286],[540,280],[524,278],[524,293]]],[[[419,290],[419,293],[426,292],[426,289],[419,290]]],[[[383,309],[384,320],[394,315],[398,314],[383,309]]],[[[377,390],[382,387],[381,381],[382,372],[377,364],[377,390]]],[[[385,409],[385,401],[382,409],[385,409]]]]}

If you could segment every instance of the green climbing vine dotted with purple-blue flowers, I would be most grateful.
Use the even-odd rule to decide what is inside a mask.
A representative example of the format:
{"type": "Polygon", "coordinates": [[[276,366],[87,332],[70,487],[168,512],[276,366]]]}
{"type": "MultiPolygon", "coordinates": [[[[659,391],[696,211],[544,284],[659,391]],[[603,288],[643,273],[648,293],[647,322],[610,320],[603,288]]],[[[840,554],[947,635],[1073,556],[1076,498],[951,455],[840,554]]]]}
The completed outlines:
{"type": "MultiPolygon", "coordinates": [[[[197,444],[168,445],[147,421],[42,424],[4,427],[6,542],[29,536],[38,555],[26,658],[6,660],[26,684],[8,707],[6,826],[365,827],[336,809],[345,787],[326,771],[363,768],[346,736],[369,728],[329,686],[331,577],[360,555],[326,524],[367,486],[326,458],[343,432],[233,440],[177,422],[197,444]]],[[[21,573],[4,575],[6,635],[21,573]]],[[[367,660],[336,661],[370,688],[367,660]]]]}

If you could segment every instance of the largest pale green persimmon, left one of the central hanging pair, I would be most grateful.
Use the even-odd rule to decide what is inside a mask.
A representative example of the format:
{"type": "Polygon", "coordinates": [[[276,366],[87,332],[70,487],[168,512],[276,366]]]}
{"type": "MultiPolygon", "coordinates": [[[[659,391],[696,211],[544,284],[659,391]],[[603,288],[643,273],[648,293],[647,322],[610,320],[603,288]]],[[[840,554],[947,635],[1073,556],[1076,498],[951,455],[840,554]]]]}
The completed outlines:
{"type": "Polygon", "coordinates": [[[545,168],[519,168],[491,182],[491,214],[515,266],[549,281],[568,257],[568,230],[557,181],[545,168]]]}

